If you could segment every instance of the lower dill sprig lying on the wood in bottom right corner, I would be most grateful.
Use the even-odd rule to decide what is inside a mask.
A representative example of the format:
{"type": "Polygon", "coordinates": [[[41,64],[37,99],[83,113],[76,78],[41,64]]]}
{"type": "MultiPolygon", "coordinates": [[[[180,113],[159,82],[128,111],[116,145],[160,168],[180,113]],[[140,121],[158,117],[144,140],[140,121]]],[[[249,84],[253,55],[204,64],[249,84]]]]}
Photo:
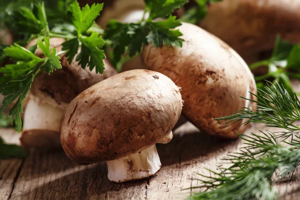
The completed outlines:
{"type": "Polygon", "coordinates": [[[299,140],[284,146],[271,132],[239,136],[248,146],[224,159],[229,167],[219,168],[220,172],[207,169],[213,176],[197,173],[206,178],[196,179],[203,183],[197,187],[205,190],[190,199],[276,199],[273,175],[278,172],[280,179],[292,176],[300,163],[299,140]]]}

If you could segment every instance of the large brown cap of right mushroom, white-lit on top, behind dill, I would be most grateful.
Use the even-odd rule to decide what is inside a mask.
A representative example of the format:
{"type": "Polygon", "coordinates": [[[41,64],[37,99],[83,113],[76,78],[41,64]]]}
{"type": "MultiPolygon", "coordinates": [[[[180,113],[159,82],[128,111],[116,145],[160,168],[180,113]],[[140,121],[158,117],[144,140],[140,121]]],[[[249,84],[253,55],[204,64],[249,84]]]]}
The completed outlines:
{"type": "Polygon", "coordinates": [[[182,23],[183,46],[160,48],[148,44],[143,48],[143,60],[149,70],[171,78],[182,88],[183,115],[201,131],[226,138],[236,138],[247,125],[241,122],[224,124],[213,118],[227,116],[242,107],[255,110],[252,73],[243,59],[225,42],[200,27],[182,23]]]}

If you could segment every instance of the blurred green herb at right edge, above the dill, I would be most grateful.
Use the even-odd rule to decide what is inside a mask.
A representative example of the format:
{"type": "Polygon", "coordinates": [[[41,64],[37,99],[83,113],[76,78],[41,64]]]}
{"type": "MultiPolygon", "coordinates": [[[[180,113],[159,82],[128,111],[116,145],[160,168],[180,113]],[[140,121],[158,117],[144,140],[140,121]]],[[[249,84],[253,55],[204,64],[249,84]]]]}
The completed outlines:
{"type": "Polygon", "coordinates": [[[265,79],[272,80],[273,84],[278,82],[283,84],[289,94],[293,95],[289,76],[300,80],[300,44],[291,44],[287,41],[276,38],[275,46],[271,57],[267,60],[255,62],[249,66],[254,69],[260,66],[267,66],[268,72],[263,75],[255,76],[257,87],[264,88],[265,79]]]}

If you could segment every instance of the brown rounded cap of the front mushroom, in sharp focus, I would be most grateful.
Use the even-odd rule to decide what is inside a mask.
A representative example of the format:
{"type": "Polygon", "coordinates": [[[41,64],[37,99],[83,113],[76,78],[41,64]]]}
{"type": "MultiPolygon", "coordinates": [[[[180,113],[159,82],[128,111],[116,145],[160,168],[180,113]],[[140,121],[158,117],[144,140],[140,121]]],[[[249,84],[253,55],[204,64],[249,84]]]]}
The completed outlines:
{"type": "Polygon", "coordinates": [[[124,157],[157,143],[181,113],[180,88],[165,75],[129,70],[92,85],[66,107],[60,141],[87,164],[124,157]]]}

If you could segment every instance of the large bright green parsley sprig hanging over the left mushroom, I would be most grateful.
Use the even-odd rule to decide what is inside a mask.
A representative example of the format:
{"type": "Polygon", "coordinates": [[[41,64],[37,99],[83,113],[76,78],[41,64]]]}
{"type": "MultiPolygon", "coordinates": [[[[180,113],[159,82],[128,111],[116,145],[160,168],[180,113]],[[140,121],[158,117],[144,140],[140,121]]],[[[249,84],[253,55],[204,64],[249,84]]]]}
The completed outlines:
{"type": "MultiPolygon", "coordinates": [[[[34,55],[36,46],[27,50],[15,43],[4,48],[6,56],[11,57],[16,63],[7,64],[0,69],[0,73],[3,74],[0,79],[0,92],[4,95],[0,112],[17,98],[16,103],[9,111],[16,131],[20,132],[21,130],[22,101],[28,93],[34,77],[39,71],[51,73],[53,70],[60,69],[58,55],[66,53],[68,61],[71,63],[81,45],[76,61],[81,64],[82,68],[87,65],[90,70],[95,68],[96,72],[103,73],[102,59],[105,58],[105,55],[100,48],[103,46],[104,40],[97,32],[89,30],[102,7],[103,3],[94,3],[90,7],[85,5],[80,9],[77,1],[72,2],[68,6],[67,16],[72,22],[74,31],[68,31],[65,34],[50,31],[43,3],[33,4],[31,7],[20,7],[11,13],[10,17],[14,19],[14,26],[19,28],[19,31],[31,34],[31,38],[38,38],[37,45],[43,52],[41,57],[44,57],[39,58],[34,55]],[[49,37],[67,39],[62,43],[63,51],[56,52],[55,48],[50,49],[49,37]]],[[[56,26],[56,30],[57,27],[59,25],[56,26]]]]}

